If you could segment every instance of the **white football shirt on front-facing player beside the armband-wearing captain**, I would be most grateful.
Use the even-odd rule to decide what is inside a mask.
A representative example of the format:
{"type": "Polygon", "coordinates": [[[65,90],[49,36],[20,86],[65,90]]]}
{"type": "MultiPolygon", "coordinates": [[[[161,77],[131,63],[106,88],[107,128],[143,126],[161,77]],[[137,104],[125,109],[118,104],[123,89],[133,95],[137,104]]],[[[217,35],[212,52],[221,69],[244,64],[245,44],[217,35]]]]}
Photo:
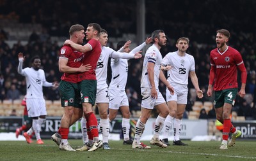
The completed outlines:
{"type": "Polygon", "coordinates": [[[172,69],[167,72],[167,80],[171,85],[173,83],[188,85],[189,71],[195,71],[195,59],[188,53],[185,53],[184,57],[180,57],[178,52],[167,53],[162,64],[172,66],[172,69]]]}

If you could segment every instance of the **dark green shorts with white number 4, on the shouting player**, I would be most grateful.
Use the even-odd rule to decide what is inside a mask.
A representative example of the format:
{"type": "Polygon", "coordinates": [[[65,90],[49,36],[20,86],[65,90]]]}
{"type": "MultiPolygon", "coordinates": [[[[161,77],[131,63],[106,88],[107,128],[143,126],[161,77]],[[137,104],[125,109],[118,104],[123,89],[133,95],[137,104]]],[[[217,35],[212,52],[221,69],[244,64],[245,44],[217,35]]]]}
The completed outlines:
{"type": "Polygon", "coordinates": [[[215,92],[215,108],[223,107],[224,103],[235,105],[237,88],[218,90],[215,92]]]}

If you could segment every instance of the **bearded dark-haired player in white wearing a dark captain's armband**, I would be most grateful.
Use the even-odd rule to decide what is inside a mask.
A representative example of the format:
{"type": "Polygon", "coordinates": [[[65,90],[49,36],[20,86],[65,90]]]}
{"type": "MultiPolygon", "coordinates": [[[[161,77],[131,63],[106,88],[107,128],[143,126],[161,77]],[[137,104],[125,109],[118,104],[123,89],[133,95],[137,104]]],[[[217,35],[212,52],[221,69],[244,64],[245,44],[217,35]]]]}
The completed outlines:
{"type": "Polygon", "coordinates": [[[141,116],[136,124],[136,132],[134,141],[132,143],[133,149],[149,149],[147,146],[140,142],[141,135],[145,129],[145,123],[147,123],[150,113],[153,108],[159,111],[159,115],[156,118],[156,124],[154,128],[154,136],[150,140],[150,144],[155,144],[162,148],[167,147],[166,144],[159,139],[161,129],[163,129],[163,123],[166,116],[169,113],[168,106],[163,98],[163,95],[159,92],[159,79],[163,81],[164,85],[173,93],[173,87],[166,80],[163,71],[161,71],[162,55],[160,49],[166,46],[166,36],[164,31],[156,30],[152,32],[153,45],[150,46],[145,53],[143,61],[143,70],[141,76],[141,116]]]}

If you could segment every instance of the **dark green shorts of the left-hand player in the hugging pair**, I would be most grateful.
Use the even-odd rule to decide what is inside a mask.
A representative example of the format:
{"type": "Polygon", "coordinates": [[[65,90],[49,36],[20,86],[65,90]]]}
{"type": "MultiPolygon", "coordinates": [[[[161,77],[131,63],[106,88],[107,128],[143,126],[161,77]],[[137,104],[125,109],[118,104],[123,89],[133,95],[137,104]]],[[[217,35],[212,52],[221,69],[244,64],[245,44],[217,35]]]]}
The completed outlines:
{"type": "Polygon", "coordinates": [[[75,108],[82,108],[80,103],[80,90],[77,83],[68,81],[60,81],[59,86],[61,106],[73,106],[75,108]]]}

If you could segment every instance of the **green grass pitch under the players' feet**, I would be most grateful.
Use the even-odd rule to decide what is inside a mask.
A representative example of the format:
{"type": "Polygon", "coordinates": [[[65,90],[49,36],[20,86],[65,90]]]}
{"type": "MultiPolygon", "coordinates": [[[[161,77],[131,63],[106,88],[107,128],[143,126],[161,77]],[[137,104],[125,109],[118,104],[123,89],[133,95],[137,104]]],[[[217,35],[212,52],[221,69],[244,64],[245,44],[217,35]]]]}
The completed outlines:
{"type": "MultiPolygon", "coordinates": [[[[44,143],[38,145],[26,141],[0,141],[0,160],[256,160],[255,141],[237,141],[234,147],[225,151],[219,150],[220,141],[184,141],[189,146],[151,146],[149,150],[133,150],[131,145],[123,145],[122,141],[109,141],[111,150],[97,151],[63,151],[51,140],[44,139],[44,143]]],[[[81,146],[82,141],[70,139],[69,143],[75,149],[81,146]]],[[[149,141],[143,143],[150,145],[149,141]]]]}

